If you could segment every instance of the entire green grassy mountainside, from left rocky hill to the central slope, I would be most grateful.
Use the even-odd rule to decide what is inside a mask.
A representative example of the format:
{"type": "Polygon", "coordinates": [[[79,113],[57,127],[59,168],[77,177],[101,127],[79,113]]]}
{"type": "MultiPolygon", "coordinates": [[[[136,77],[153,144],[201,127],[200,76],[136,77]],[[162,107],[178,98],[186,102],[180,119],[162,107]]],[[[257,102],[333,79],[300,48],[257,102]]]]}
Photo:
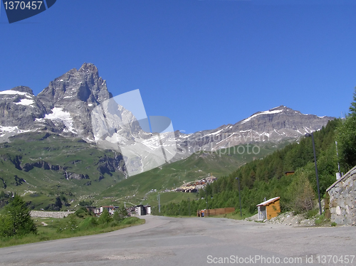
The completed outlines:
{"type": "MultiPolygon", "coordinates": [[[[0,191],[19,193],[31,202],[31,208],[54,211],[78,208],[80,201],[92,201],[97,206],[123,202],[129,206],[154,204],[159,191],[171,190],[208,174],[226,176],[246,162],[286,145],[258,145],[258,154],[253,154],[251,145],[249,152],[244,146],[243,154],[234,147],[201,152],[125,179],[121,154],[98,149],[82,139],[42,132],[20,134],[10,140],[0,144],[0,191]],[[157,191],[150,192],[152,190],[157,191]]],[[[162,203],[179,202],[188,197],[195,195],[161,194],[162,203]]]]}

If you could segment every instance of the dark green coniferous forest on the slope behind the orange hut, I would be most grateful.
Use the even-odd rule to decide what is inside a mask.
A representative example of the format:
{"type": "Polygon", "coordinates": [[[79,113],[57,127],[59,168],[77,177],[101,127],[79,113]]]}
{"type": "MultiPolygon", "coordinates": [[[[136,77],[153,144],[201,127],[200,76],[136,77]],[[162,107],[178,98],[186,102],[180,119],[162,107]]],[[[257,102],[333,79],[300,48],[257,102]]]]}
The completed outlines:
{"type": "MultiPolygon", "coordinates": [[[[350,113],[345,119],[334,119],[314,132],[315,153],[321,198],[336,181],[338,164],[346,173],[356,165],[356,90],[350,113]],[[337,141],[337,144],[335,143],[337,141]],[[337,156],[338,151],[338,156],[337,156]]],[[[309,211],[318,198],[311,137],[301,137],[263,159],[251,161],[239,169],[210,183],[190,201],[161,206],[159,215],[195,216],[205,208],[235,207],[239,212],[239,183],[244,216],[256,213],[258,203],[266,198],[281,197],[281,212],[309,211]],[[288,174],[294,172],[294,174],[288,174]],[[240,182],[239,182],[240,181],[240,182]]],[[[158,208],[153,208],[158,215],[158,208]]]]}

